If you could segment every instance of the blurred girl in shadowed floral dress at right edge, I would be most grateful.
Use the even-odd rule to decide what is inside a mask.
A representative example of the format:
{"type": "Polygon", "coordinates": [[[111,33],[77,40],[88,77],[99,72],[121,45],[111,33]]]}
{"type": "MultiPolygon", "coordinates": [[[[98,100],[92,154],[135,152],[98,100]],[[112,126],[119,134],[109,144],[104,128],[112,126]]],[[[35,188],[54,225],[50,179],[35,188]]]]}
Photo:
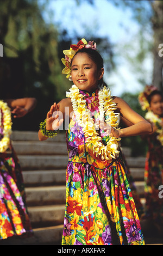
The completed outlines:
{"type": "Polygon", "coordinates": [[[153,126],[153,134],[146,136],[148,152],[145,164],[146,214],[144,218],[154,225],[157,234],[163,235],[163,96],[154,86],[146,86],[139,95],[142,109],[147,111],[145,118],[153,126]],[[160,195],[160,196],[159,196],[160,195]]]}

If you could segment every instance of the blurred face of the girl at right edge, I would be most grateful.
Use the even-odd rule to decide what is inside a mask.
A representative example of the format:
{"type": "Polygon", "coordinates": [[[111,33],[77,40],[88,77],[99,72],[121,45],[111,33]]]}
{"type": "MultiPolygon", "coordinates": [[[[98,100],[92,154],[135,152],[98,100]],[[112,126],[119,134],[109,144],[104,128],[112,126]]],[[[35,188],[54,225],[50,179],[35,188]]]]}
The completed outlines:
{"type": "Polygon", "coordinates": [[[161,95],[155,94],[152,96],[150,108],[154,114],[157,114],[157,115],[163,114],[163,99],[161,95]]]}

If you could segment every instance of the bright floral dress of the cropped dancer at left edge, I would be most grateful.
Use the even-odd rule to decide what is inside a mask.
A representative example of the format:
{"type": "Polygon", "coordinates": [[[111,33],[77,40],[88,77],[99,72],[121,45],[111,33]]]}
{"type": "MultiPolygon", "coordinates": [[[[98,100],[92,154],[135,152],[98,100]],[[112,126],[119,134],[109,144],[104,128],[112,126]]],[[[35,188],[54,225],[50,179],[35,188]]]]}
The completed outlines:
{"type": "MultiPolygon", "coordinates": [[[[3,138],[1,114],[0,139],[3,138]]],[[[0,153],[0,240],[14,235],[30,236],[32,233],[21,168],[10,144],[5,153],[0,153]]]]}

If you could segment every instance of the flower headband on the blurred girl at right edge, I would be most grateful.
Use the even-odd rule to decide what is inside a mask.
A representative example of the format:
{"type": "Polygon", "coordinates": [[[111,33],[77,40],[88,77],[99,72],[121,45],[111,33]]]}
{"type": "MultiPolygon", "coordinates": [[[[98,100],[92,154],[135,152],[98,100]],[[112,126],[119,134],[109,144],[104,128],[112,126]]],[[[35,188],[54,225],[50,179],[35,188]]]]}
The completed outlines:
{"type": "Polygon", "coordinates": [[[149,106],[149,102],[148,102],[148,96],[154,91],[154,90],[158,90],[158,88],[156,88],[155,86],[146,86],[145,90],[139,94],[139,103],[141,105],[141,108],[143,111],[147,110],[149,111],[150,106],[149,106]]]}

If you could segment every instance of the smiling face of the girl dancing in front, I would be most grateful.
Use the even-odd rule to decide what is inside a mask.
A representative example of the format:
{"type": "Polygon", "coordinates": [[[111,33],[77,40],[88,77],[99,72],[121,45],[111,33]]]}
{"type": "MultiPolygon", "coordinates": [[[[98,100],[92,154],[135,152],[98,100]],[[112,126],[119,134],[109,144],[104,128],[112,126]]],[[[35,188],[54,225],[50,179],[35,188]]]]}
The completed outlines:
{"type": "Polygon", "coordinates": [[[74,56],[71,65],[73,83],[81,90],[93,92],[103,77],[104,69],[97,70],[97,65],[85,52],[74,56]]]}

